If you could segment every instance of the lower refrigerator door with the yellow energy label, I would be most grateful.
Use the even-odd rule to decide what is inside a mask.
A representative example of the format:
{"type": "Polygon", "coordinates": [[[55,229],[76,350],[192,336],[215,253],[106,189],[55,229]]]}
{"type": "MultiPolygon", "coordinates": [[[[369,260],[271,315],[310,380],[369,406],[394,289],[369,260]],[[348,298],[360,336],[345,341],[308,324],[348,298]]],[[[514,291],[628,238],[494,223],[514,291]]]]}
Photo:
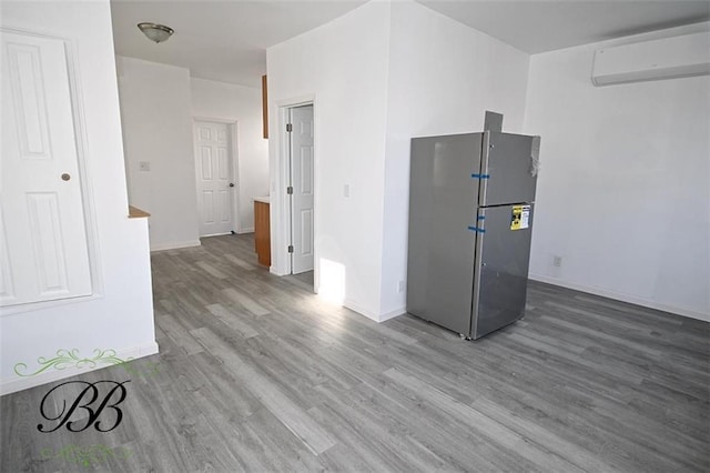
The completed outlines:
{"type": "Polygon", "coordinates": [[[470,336],[479,339],[525,313],[532,204],[478,209],[470,336]]]}

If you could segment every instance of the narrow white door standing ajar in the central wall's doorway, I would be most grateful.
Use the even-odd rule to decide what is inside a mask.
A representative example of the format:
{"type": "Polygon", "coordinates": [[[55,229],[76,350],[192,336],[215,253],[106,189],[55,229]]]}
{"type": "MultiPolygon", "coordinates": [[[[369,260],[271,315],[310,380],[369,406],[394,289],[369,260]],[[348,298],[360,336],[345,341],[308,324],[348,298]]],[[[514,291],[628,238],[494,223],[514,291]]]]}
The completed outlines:
{"type": "Polygon", "coordinates": [[[313,105],[290,110],[292,273],[313,270],[313,105]]]}

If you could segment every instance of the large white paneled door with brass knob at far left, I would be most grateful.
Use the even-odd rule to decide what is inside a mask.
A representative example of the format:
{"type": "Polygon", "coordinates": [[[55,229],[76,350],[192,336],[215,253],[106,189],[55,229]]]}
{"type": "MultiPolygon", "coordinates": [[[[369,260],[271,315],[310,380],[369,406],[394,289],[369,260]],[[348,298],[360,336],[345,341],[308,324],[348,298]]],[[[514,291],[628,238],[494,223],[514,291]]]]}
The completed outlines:
{"type": "Polygon", "coordinates": [[[0,305],[91,294],[67,54],[2,31],[0,305]]]}

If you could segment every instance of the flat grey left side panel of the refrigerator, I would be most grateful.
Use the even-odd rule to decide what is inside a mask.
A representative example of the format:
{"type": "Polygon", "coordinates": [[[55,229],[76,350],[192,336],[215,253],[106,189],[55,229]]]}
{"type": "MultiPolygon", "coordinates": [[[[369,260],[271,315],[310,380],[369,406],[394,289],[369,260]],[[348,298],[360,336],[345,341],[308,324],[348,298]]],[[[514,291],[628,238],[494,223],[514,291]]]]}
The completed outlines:
{"type": "Polygon", "coordinates": [[[466,335],[481,135],[412,140],[407,311],[466,335]]]}

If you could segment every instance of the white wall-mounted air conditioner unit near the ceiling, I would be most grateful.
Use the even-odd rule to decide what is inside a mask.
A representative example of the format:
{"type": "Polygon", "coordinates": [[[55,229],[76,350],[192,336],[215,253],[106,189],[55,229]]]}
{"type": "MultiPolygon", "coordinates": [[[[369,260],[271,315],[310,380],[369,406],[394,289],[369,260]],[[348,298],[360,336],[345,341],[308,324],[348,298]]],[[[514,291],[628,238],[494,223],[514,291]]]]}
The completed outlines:
{"type": "Polygon", "coordinates": [[[710,32],[686,34],[595,52],[591,82],[621,82],[710,74],[710,32]]]}

